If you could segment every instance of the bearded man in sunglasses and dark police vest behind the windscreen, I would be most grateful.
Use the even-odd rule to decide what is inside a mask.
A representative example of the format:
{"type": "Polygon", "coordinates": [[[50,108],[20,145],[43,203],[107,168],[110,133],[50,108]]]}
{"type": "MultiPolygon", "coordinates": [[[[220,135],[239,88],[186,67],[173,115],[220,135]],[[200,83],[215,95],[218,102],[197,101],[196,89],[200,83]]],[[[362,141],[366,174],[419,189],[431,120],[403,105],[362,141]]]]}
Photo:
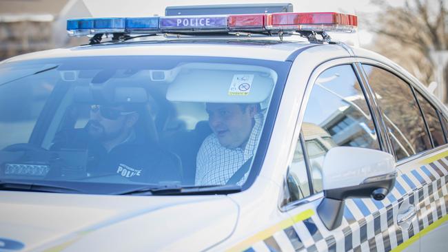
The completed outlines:
{"type": "Polygon", "coordinates": [[[87,125],[57,134],[52,149],[87,149],[87,176],[114,175],[150,183],[181,181],[179,157],[136,132],[144,106],[91,105],[87,125]]]}

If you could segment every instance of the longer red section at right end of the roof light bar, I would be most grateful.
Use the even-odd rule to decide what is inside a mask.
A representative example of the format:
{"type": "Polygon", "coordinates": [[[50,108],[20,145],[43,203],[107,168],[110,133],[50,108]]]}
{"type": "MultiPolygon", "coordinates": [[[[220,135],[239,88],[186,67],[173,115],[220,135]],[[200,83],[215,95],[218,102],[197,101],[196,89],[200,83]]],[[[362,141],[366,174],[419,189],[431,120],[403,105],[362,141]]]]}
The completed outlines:
{"type": "Polygon", "coordinates": [[[336,12],[268,14],[268,30],[312,30],[316,32],[354,32],[358,18],[336,12]]]}

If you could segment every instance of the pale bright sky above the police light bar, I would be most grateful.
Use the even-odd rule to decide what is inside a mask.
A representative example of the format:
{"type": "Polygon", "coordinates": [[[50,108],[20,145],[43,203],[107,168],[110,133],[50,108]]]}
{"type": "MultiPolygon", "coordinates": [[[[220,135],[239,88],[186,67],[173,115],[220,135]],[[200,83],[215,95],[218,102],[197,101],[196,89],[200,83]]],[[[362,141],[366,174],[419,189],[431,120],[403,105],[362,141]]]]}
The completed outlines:
{"type": "MultiPolygon", "coordinates": [[[[362,23],[363,18],[375,19],[381,10],[370,0],[313,0],[313,1],[269,1],[269,0],[83,0],[92,17],[152,17],[164,16],[166,6],[191,6],[232,3],[292,3],[294,12],[343,12],[358,15],[358,32],[354,35],[340,36],[341,41],[366,46],[371,43],[371,34],[362,23]]],[[[392,6],[403,6],[405,0],[388,1],[392,6]]]]}

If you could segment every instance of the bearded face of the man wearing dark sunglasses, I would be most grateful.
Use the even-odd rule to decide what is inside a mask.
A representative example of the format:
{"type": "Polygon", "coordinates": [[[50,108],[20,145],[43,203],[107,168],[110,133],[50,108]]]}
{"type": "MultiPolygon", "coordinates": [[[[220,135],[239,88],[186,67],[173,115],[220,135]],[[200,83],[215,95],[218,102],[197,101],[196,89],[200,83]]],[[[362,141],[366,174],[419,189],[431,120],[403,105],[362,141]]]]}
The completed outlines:
{"type": "Polygon", "coordinates": [[[101,142],[118,138],[126,133],[128,112],[123,107],[103,107],[92,105],[90,120],[87,126],[88,134],[101,142]]]}

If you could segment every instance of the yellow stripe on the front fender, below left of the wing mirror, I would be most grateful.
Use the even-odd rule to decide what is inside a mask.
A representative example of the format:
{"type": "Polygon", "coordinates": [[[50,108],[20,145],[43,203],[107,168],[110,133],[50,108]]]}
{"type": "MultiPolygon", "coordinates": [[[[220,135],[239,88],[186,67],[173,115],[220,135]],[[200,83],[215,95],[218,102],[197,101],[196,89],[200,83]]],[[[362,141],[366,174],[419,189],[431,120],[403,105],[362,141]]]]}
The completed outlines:
{"type": "Polygon", "coordinates": [[[236,246],[232,247],[232,249],[229,249],[228,251],[243,251],[243,250],[249,248],[250,246],[252,246],[252,244],[254,244],[258,241],[261,241],[261,240],[265,240],[266,238],[271,237],[274,233],[281,231],[283,229],[286,229],[288,227],[291,227],[294,223],[300,222],[302,220],[306,220],[307,218],[310,218],[313,215],[314,215],[314,211],[312,209],[305,210],[305,211],[299,213],[298,215],[293,216],[292,220],[291,219],[283,220],[282,222],[278,222],[277,224],[275,224],[272,227],[269,227],[268,229],[265,229],[261,232],[256,233],[251,238],[244,240],[243,242],[237,244],[236,246]]]}

